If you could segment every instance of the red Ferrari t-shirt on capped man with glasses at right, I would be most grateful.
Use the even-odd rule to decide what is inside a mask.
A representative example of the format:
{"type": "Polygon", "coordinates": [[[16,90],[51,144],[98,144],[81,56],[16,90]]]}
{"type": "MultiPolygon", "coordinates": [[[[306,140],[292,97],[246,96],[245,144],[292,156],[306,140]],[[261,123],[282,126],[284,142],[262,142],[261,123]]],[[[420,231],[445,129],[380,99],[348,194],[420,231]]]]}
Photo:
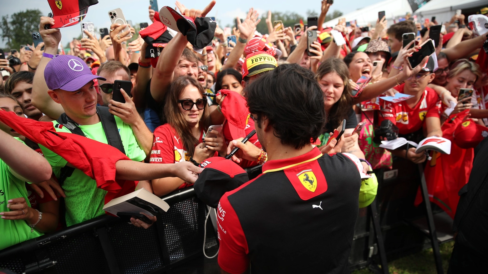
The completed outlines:
{"type": "MultiPolygon", "coordinates": [[[[405,84],[395,87],[403,93],[405,84]]],[[[441,99],[437,93],[426,87],[420,100],[410,108],[405,101],[392,103],[380,99],[381,115],[379,122],[390,120],[395,124],[400,134],[415,132],[423,127],[427,117],[441,117],[441,99]]]]}

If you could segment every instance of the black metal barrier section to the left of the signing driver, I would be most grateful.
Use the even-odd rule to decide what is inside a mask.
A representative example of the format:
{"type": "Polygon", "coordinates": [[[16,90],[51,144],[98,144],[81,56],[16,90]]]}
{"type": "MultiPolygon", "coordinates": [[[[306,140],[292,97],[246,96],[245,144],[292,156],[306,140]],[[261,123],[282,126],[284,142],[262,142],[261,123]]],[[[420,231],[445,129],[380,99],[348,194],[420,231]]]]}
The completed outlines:
{"type": "MultiPolygon", "coordinates": [[[[27,274],[143,274],[166,271],[200,256],[206,205],[193,188],[173,192],[163,200],[170,209],[149,229],[100,216],[0,251],[0,268],[27,274]]],[[[206,248],[216,251],[211,222],[206,232],[206,248]]]]}

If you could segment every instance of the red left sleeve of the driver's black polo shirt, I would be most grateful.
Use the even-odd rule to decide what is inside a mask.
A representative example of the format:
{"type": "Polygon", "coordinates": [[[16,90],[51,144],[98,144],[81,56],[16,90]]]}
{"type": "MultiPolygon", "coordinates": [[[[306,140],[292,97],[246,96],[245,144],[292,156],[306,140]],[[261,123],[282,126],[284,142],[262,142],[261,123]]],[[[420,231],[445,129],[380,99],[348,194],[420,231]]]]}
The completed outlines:
{"type": "Polygon", "coordinates": [[[231,274],[241,274],[249,267],[247,241],[239,218],[224,194],[217,207],[219,266],[231,274]]]}

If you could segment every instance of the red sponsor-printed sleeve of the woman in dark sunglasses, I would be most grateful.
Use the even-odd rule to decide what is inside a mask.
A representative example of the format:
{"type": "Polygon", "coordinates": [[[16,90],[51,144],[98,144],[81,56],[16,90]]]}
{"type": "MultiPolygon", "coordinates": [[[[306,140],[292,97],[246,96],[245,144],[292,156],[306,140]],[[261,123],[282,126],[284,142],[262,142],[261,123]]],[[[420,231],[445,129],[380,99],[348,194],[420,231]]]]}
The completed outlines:
{"type": "Polygon", "coordinates": [[[173,145],[173,134],[168,124],[154,130],[153,146],[149,163],[151,164],[174,164],[175,146],[173,145]]]}

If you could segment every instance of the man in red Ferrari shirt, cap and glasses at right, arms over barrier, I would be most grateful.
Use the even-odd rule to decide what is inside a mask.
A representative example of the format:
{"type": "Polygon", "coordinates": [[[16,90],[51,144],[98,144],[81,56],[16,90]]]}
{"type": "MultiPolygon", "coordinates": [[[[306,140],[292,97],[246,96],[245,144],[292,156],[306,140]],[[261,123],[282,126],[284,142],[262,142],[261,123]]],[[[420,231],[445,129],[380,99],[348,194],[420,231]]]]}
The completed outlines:
{"type": "MultiPolygon", "coordinates": [[[[414,95],[414,97],[398,103],[380,99],[380,123],[385,119],[390,120],[398,127],[400,136],[416,133],[423,129],[424,132],[419,132],[417,136],[442,137],[441,100],[434,90],[427,87],[435,77],[434,62],[432,57],[429,57],[427,64],[419,73],[405,80],[404,84],[395,87],[397,91],[414,95]]],[[[403,137],[417,143],[424,139],[419,137],[416,140],[411,140],[412,136],[403,137]]],[[[415,153],[415,149],[415,147],[410,147],[407,151],[406,149],[397,148],[391,152],[415,164],[423,163],[427,158],[426,154],[423,151],[415,153]]]]}

